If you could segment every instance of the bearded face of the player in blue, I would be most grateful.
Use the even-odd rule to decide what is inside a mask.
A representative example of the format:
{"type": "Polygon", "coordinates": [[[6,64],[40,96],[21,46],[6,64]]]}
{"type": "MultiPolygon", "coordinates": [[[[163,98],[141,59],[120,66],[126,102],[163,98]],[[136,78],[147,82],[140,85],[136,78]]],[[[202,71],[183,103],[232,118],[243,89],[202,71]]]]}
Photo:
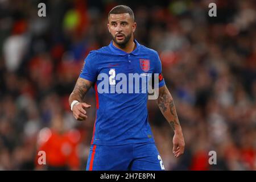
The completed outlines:
{"type": "Polygon", "coordinates": [[[129,13],[110,14],[108,28],[113,41],[118,44],[118,46],[125,47],[133,36],[136,23],[134,23],[129,13]]]}

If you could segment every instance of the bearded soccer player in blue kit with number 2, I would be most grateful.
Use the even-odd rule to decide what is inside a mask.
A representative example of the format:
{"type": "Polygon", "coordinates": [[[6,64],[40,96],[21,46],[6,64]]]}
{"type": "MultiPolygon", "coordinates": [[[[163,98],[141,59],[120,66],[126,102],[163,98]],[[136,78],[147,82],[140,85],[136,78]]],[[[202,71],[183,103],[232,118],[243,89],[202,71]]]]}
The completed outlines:
{"type": "MultiPolygon", "coordinates": [[[[86,170],[164,170],[148,124],[148,94],[118,92],[117,85],[121,81],[118,74],[119,77],[120,74],[129,77],[130,73],[141,76],[159,74],[156,101],[174,129],[175,157],[184,152],[183,133],[174,100],[164,83],[158,53],[134,39],[135,29],[134,13],[130,7],[115,6],[109,12],[108,30],[113,40],[109,46],[89,53],[69,97],[73,116],[83,121],[88,118],[86,109],[90,107],[83,98],[91,86],[96,92],[96,121],[86,170]],[[107,86],[101,84],[100,75],[104,74],[109,76],[107,86]],[[113,86],[114,92],[99,92],[99,89],[111,90],[113,86]]],[[[127,87],[133,87],[131,90],[134,86],[130,82],[127,84],[127,87]]]]}

